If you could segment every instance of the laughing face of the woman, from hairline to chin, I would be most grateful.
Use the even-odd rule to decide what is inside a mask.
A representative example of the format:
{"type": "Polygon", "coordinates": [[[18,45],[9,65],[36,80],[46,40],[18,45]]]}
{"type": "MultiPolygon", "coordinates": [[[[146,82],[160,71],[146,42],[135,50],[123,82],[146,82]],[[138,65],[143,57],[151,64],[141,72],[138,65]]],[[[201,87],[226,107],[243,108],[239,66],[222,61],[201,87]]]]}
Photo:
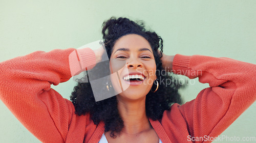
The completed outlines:
{"type": "Polygon", "coordinates": [[[119,38],[113,47],[110,70],[119,100],[144,99],[156,79],[156,63],[150,43],[136,34],[119,38]]]}

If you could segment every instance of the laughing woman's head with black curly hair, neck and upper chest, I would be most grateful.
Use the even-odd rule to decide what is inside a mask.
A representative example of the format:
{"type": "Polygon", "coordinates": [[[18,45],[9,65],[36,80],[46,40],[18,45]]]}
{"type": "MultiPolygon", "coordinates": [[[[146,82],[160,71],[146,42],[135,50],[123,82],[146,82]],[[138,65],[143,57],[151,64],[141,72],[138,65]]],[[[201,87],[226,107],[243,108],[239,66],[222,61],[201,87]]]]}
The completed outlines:
{"type": "Polygon", "coordinates": [[[71,98],[76,113],[84,115],[90,112],[94,123],[103,121],[106,138],[111,142],[121,142],[123,139],[131,142],[157,142],[159,137],[148,118],[154,121],[161,119],[164,110],[168,110],[171,104],[181,103],[178,94],[180,84],[174,82],[174,77],[162,68],[161,37],[155,32],[146,31],[143,23],[135,23],[127,18],[111,18],[104,22],[102,34],[110,67],[102,67],[99,63],[94,70],[118,72],[120,77],[111,76],[110,87],[115,91],[126,90],[118,92],[120,94],[117,96],[95,102],[90,83],[79,83],[71,98]],[[136,77],[143,80],[134,80],[136,77]],[[157,80],[160,79],[164,83],[168,80],[168,85],[158,85],[157,80]],[[153,92],[150,92],[151,89],[153,92]],[[152,138],[145,132],[150,132],[152,138]]]}

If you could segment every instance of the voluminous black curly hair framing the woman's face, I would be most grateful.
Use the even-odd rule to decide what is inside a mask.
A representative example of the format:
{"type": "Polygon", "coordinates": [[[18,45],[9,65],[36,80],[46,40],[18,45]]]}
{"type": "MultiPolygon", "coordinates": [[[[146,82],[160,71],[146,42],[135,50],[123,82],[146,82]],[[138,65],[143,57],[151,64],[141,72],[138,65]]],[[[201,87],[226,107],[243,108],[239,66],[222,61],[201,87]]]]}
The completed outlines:
{"type": "MultiPolygon", "coordinates": [[[[161,80],[161,83],[159,84],[157,92],[149,92],[146,95],[145,107],[147,118],[151,118],[154,121],[159,120],[162,118],[164,110],[170,109],[170,105],[173,103],[182,103],[178,93],[181,84],[162,68],[160,59],[163,52],[163,40],[160,36],[155,32],[147,31],[142,21],[134,22],[128,18],[112,17],[108,21],[103,22],[102,26],[104,46],[109,59],[116,40],[124,35],[140,35],[151,45],[156,62],[157,80],[161,80]]],[[[102,69],[104,66],[105,64],[98,63],[94,69],[102,69]]],[[[108,68],[108,66],[105,66],[105,69],[108,68]]],[[[156,85],[153,84],[153,89],[156,88],[155,86],[156,85]]],[[[106,87],[105,83],[102,84],[102,87],[106,87]]],[[[91,120],[93,120],[96,125],[98,125],[100,121],[103,121],[105,124],[104,131],[111,131],[111,137],[115,138],[116,135],[114,132],[120,133],[122,130],[124,125],[117,109],[118,101],[116,96],[95,102],[90,82],[78,82],[70,98],[75,106],[75,113],[77,115],[82,116],[86,113],[90,113],[91,120]]]]}

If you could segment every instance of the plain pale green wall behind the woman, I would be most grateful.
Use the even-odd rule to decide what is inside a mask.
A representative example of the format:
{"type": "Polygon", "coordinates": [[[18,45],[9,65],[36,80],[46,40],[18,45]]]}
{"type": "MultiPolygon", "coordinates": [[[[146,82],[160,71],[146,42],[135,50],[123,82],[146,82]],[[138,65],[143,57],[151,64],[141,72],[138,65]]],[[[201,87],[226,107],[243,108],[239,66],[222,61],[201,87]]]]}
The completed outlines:
{"type": "MultiPolygon", "coordinates": [[[[202,54],[255,64],[255,8],[255,0],[1,0],[0,62],[36,50],[78,48],[101,39],[103,21],[111,16],[122,16],[145,21],[147,27],[163,38],[166,54],[202,54]]],[[[181,91],[186,101],[194,99],[208,87],[198,79],[190,83],[181,91]]],[[[52,88],[69,98],[74,85],[69,80],[52,88]]],[[[0,142],[40,142],[18,122],[2,101],[0,114],[0,142]]],[[[255,114],[254,103],[221,135],[255,137],[255,114]]]]}

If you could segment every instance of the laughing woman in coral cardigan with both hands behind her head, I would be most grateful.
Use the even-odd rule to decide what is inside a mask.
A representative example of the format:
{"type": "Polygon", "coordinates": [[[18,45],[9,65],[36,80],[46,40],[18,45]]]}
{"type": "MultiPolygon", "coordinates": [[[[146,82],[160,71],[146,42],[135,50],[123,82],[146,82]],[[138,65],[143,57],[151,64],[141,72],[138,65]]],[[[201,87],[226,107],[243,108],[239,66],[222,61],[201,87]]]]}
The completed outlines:
{"type": "Polygon", "coordinates": [[[253,64],[202,55],[164,55],[162,39],[127,18],[111,18],[102,33],[110,71],[119,73],[106,88],[126,87],[102,101],[94,101],[90,83],[75,87],[73,103],[50,88],[71,78],[70,66],[97,68],[100,50],[76,50],[80,65],[69,63],[73,48],[37,51],[1,63],[2,101],[42,142],[193,142],[193,137],[210,142],[256,99],[253,64]],[[170,88],[160,82],[160,77],[172,79],[159,73],[163,69],[199,77],[210,88],[195,100],[169,108],[180,102],[179,85],[172,82],[170,88]]]}

